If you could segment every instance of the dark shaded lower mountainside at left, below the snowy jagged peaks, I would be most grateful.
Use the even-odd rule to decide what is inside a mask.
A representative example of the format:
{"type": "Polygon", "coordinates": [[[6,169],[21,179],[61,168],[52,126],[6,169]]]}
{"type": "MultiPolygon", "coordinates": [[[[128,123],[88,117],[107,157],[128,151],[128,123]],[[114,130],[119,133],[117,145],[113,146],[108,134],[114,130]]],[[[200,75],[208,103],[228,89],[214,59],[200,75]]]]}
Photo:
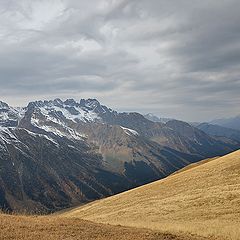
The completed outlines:
{"type": "Polygon", "coordinates": [[[134,186],[84,141],[0,129],[0,206],[49,212],[134,186]]]}

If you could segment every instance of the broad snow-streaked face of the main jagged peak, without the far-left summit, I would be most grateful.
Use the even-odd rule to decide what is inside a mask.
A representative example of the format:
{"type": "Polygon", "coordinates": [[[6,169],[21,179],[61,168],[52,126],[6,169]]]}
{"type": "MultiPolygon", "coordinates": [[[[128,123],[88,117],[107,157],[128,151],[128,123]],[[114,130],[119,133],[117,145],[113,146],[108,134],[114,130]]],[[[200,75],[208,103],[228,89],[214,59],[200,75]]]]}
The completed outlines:
{"type": "Polygon", "coordinates": [[[73,124],[101,121],[94,109],[82,107],[74,99],[36,101],[28,105],[27,112],[32,126],[44,132],[78,140],[84,135],[73,131],[73,124]]]}

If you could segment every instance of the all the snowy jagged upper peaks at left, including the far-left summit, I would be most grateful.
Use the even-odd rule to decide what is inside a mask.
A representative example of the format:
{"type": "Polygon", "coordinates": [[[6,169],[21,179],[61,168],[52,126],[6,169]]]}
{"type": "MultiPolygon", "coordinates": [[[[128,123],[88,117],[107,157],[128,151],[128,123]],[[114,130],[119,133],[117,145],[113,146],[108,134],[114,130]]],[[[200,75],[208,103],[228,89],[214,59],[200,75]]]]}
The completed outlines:
{"type": "Polygon", "coordinates": [[[97,99],[40,100],[30,102],[26,108],[11,108],[0,102],[0,126],[30,128],[36,133],[54,133],[68,138],[82,139],[79,130],[84,123],[104,122],[113,111],[97,99]],[[2,107],[2,109],[1,109],[2,107]],[[8,108],[8,109],[7,109],[8,108]],[[72,131],[78,126],[77,131],[72,131]]]}

